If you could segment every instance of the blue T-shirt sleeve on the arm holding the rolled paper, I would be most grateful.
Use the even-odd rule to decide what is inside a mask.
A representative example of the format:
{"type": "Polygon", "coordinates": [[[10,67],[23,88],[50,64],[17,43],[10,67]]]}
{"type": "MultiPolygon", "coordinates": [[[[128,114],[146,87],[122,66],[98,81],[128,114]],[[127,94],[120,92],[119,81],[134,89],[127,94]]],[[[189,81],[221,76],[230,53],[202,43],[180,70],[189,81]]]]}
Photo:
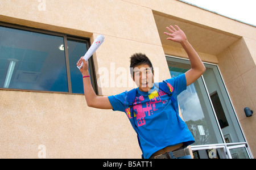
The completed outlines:
{"type": "Polygon", "coordinates": [[[110,104],[113,107],[113,111],[125,112],[127,105],[127,91],[122,92],[121,94],[108,96],[110,104]]]}

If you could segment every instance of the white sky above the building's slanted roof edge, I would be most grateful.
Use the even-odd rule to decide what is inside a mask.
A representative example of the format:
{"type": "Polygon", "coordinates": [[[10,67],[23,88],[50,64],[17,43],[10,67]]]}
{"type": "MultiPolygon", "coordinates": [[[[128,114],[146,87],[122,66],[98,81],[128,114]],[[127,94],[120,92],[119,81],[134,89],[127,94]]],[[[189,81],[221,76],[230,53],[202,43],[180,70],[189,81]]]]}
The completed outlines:
{"type": "Polygon", "coordinates": [[[182,0],[256,26],[256,0],[182,0]]]}

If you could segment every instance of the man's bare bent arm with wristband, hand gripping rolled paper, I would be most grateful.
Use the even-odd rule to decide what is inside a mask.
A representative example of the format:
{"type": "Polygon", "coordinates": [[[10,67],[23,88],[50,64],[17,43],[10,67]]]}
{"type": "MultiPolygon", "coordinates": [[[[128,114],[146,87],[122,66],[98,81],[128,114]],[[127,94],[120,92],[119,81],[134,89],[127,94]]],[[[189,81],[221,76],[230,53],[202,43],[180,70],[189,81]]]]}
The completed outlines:
{"type": "Polygon", "coordinates": [[[83,65],[80,69],[82,76],[86,76],[83,78],[84,82],[84,95],[86,103],[89,107],[98,108],[98,109],[113,109],[112,105],[107,96],[97,96],[93,90],[92,83],[89,78],[89,70],[88,70],[88,61],[85,61],[84,58],[80,58],[77,62],[77,66],[80,66],[83,62],[83,65]]]}

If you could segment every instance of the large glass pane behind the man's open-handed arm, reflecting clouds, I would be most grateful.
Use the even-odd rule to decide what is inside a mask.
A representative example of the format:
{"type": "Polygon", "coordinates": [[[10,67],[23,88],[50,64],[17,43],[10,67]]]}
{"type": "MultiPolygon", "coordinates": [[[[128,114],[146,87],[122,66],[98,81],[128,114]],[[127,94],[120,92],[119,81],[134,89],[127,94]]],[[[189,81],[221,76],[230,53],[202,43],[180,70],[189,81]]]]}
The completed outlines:
{"type": "MultiPolygon", "coordinates": [[[[191,66],[183,62],[183,60],[167,58],[167,63],[172,77],[183,74],[191,69],[191,66]]],[[[187,90],[177,96],[177,99],[183,120],[195,138],[193,145],[209,145],[224,142],[202,78],[188,86],[187,90]]]]}

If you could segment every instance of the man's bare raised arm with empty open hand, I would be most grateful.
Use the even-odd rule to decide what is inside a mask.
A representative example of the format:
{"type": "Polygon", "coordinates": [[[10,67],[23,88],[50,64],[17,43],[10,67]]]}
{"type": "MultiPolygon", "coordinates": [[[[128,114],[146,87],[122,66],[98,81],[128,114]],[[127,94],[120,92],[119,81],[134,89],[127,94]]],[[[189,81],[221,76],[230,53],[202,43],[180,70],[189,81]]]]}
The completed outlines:
{"type": "Polygon", "coordinates": [[[166,28],[170,33],[164,32],[164,34],[170,36],[167,38],[167,40],[179,42],[183,46],[185,52],[188,54],[191,69],[185,73],[185,77],[187,80],[187,86],[189,86],[200,78],[206,69],[195,49],[193,49],[192,45],[189,44],[185,33],[177,25],[175,25],[175,27],[176,28],[170,25],[170,28],[166,28]]]}

